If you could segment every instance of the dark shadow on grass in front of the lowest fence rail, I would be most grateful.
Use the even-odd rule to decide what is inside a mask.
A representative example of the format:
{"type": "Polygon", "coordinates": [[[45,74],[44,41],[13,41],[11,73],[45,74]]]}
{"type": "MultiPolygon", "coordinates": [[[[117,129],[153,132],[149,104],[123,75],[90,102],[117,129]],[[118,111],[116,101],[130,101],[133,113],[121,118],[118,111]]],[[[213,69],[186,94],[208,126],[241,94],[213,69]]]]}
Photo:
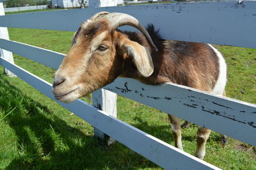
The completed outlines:
{"type": "Polygon", "coordinates": [[[47,107],[22,94],[5,75],[0,75],[0,108],[6,116],[4,121],[17,136],[16,156],[10,158],[6,169],[158,167],[120,143],[106,147],[93,136],[70,127],[47,107]]]}

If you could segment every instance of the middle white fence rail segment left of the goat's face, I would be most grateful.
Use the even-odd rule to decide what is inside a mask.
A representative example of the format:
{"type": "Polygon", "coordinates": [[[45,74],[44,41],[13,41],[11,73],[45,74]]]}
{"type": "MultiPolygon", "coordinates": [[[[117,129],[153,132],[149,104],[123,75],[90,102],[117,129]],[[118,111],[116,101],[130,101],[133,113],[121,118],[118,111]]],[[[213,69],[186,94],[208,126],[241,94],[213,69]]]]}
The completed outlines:
{"type": "Polygon", "coordinates": [[[14,42],[10,40],[0,39],[0,48],[12,51],[19,56],[32,59],[38,63],[58,69],[65,54],[42,49],[26,43],[14,42]]]}

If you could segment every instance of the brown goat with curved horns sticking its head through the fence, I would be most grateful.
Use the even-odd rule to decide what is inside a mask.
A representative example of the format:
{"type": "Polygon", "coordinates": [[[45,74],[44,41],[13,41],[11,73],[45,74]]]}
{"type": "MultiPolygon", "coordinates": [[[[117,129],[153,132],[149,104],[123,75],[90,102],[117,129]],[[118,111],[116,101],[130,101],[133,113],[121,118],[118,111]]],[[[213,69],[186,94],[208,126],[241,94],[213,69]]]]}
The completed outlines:
{"type": "MultiPolygon", "coordinates": [[[[225,95],[227,65],[210,44],[163,40],[125,13],[100,12],[81,24],[72,47],[54,75],[56,100],[73,102],[113,82],[130,77],[146,84],[174,82],[225,95]],[[129,25],[141,33],[120,31],[129,25]]],[[[168,114],[175,146],[182,150],[180,119],[168,114]]],[[[195,156],[203,159],[211,130],[199,127],[195,156]]]]}

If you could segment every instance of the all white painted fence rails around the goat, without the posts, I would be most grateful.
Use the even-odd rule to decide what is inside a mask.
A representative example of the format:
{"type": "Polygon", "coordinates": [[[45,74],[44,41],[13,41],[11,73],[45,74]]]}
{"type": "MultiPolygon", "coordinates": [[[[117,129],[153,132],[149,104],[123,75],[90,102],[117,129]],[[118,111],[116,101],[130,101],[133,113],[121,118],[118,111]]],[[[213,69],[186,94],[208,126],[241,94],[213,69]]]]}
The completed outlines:
{"type": "MultiPolygon", "coordinates": [[[[81,22],[97,12],[123,12],[133,15],[144,25],[153,23],[160,27],[161,35],[166,39],[256,48],[255,9],[256,1],[86,8],[1,16],[0,26],[76,31],[81,22]],[[168,17],[163,18],[163,16],[168,17]]],[[[123,27],[123,29],[131,29],[131,27],[123,27]]],[[[65,56],[51,50],[3,39],[0,39],[0,48],[54,69],[58,68],[65,56]]],[[[56,101],[51,93],[51,84],[4,58],[0,58],[0,63],[56,101]]],[[[149,86],[133,79],[116,79],[104,89],[256,146],[256,105],[254,104],[177,84],[149,86]]],[[[102,99],[98,98],[98,100],[102,99]]],[[[95,109],[82,100],[76,100],[71,104],[58,103],[93,127],[165,169],[218,169],[204,160],[109,116],[108,112],[95,109]]]]}

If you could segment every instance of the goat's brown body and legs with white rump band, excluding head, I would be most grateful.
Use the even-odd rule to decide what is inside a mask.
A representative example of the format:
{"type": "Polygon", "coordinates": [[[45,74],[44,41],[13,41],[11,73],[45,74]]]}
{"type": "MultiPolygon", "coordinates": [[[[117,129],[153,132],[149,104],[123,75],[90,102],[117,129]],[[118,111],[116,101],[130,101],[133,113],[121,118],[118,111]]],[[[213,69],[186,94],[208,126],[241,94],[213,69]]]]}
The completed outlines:
{"type": "MultiPolygon", "coordinates": [[[[154,63],[154,72],[150,77],[141,76],[132,59],[124,63],[122,76],[138,79],[146,84],[161,84],[173,82],[191,88],[209,91],[218,95],[225,95],[227,81],[227,66],[220,52],[212,45],[195,42],[180,42],[163,40],[154,26],[147,27],[158,51],[150,50],[147,40],[141,33],[124,32],[130,40],[147,47],[154,63]]],[[[182,150],[181,127],[179,118],[168,114],[171,121],[175,146],[182,150]]],[[[197,132],[197,148],[195,155],[198,158],[205,156],[205,143],[211,130],[199,127],[197,132]]],[[[227,136],[222,139],[227,143],[227,136]]]]}

